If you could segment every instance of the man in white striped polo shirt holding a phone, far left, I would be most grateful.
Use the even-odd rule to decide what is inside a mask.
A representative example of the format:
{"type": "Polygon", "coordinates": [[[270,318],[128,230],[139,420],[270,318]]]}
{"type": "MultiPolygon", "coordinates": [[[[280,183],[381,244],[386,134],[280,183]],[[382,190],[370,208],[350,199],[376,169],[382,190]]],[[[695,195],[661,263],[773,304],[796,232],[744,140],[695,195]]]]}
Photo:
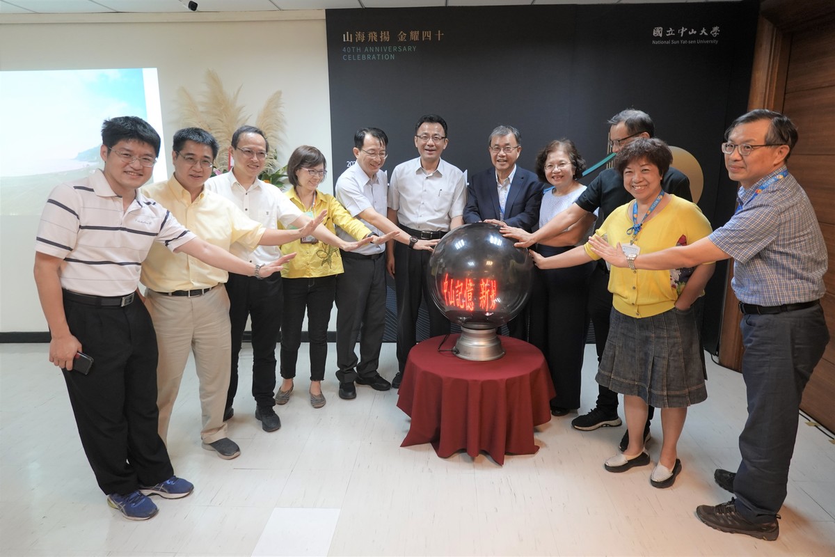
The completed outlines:
{"type": "Polygon", "coordinates": [[[148,495],[176,499],[194,486],[177,478],[157,433],[157,343],[137,303],[139,266],[154,242],[210,265],[269,276],[278,261],[254,266],[210,246],[138,191],[159,155],[159,134],[144,120],[105,120],[104,171],[58,185],[43,209],[35,282],[63,368],[78,434],[108,503],[132,520],[157,513],[148,495]],[[73,371],[83,352],[89,372],[73,371]]]}

